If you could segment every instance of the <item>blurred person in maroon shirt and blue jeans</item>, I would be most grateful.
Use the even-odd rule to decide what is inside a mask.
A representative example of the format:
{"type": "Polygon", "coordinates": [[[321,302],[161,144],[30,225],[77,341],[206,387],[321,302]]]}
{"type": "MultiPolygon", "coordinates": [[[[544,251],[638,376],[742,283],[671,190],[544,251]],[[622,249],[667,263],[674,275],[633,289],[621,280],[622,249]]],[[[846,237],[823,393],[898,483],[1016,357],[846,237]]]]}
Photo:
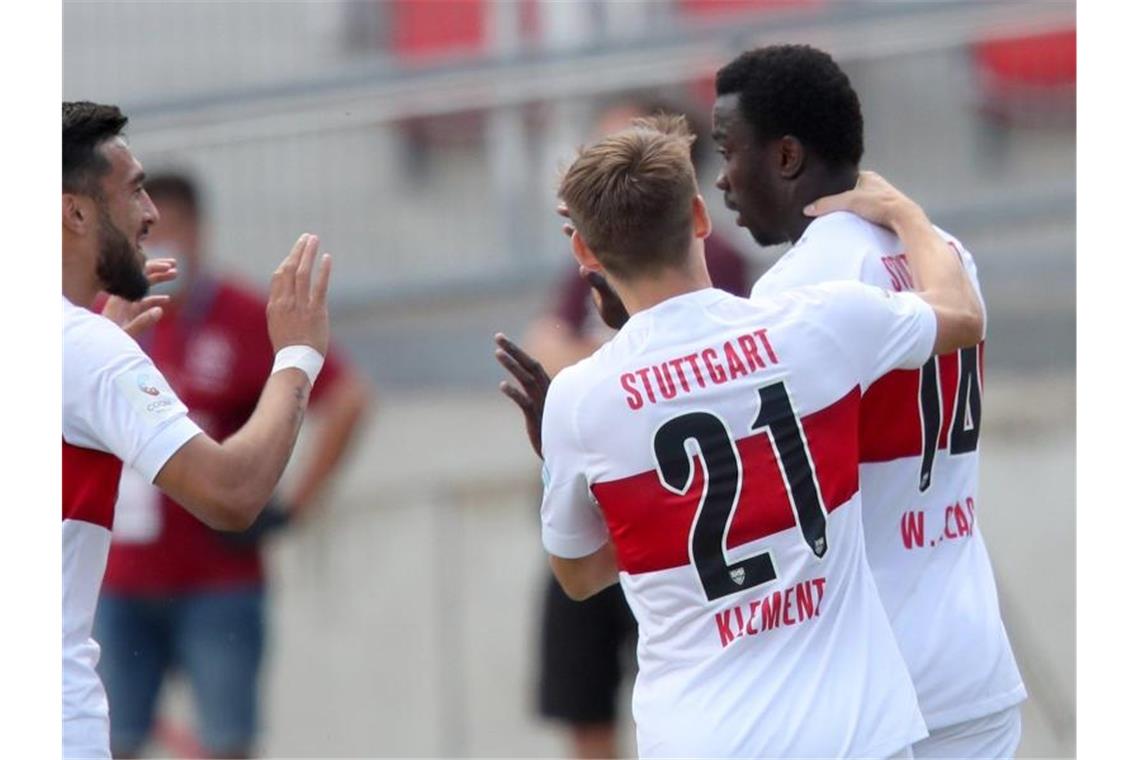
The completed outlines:
{"type": "MultiPolygon", "coordinates": [[[[165,316],[139,342],[190,417],[221,440],[252,414],[274,362],[264,299],[210,271],[189,178],[155,177],[147,190],[161,213],[148,251],[177,259],[179,277],[165,316]]],[[[333,348],[312,389],[317,426],[295,485],[244,533],[211,530],[124,471],[95,623],[115,757],[142,751],[164,677],[174,670],[194,695],[201,753],[252,753],[266,626],[260,545],[319,502],[368,401],[364,379],[333,348]]]]}

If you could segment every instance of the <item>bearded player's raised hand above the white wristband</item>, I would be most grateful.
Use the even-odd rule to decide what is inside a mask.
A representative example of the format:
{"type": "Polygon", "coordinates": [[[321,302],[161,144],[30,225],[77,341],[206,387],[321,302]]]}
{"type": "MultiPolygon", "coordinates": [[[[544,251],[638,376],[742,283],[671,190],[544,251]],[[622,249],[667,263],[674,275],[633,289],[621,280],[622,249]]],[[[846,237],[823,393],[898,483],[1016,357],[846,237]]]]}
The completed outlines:
{"type": "Polygon", "coordinates": [[[320,353],[328,351],[327,295],[333,259],[327,253],[320,256],[314,284],[312,268],[319,247],[317,236],[306,232],[274,272],[266,305],[274,351],[287,345],[309,345],[320,353]]]}

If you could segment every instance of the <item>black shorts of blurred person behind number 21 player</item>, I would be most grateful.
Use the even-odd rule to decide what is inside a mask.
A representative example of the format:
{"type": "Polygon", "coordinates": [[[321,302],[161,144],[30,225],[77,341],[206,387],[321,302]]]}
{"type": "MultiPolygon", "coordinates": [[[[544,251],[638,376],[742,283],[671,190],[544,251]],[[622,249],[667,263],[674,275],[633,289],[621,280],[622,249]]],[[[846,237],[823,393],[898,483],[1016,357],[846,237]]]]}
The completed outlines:
{"type": "Polygon", "coordinates": [[[585,602],[552,575],[543,602],[538,709],[569,724],[612,724],[625,671],[636,670],[634,620],[621,587],[585,602]]]}

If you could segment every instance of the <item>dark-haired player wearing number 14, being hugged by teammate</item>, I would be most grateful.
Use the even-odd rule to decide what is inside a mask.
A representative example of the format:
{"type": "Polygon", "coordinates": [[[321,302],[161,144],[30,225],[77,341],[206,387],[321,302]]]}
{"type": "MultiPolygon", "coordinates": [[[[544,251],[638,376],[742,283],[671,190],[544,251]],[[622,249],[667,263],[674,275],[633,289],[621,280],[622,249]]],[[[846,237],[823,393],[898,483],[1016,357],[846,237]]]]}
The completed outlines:
{"type": "MultiPolygon", "coordinates": [[[[716,92],[725,204],[760,245],[795,243],[754,299],[830,280],[917,288],[905,240],[855,214],[801,211],[850,189],[863,156],[858,96],[830,56],[806,46],[746,52],[717,73],[716,92]]],[[[939,234],[980,299],[972,258],[939,234]]],[[[1026,690],[977,515],[984,345],[891,373],[862,402],[866,553],[930,730],[914,745],[920,758],[1009,758],[1021,734],[1026,690]]]]}

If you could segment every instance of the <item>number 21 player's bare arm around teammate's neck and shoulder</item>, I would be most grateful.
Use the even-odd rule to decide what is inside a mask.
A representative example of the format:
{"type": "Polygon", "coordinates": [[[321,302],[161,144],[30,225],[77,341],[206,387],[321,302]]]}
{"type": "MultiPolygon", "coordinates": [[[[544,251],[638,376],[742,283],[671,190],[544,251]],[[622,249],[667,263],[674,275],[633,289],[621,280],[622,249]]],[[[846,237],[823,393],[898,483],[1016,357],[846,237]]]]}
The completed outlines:
{"type": "Polygon", "coordinates": [[[821,216],[850,211],[890,229],[903,243],[919,297],[929,303],[938,321],[935,353],[977,345],[984,335],[985,314],[961,259],[938,235],[919,204],[874,172],[860,172],[855,189],[826,196],[804,213],[821,216]]]}

